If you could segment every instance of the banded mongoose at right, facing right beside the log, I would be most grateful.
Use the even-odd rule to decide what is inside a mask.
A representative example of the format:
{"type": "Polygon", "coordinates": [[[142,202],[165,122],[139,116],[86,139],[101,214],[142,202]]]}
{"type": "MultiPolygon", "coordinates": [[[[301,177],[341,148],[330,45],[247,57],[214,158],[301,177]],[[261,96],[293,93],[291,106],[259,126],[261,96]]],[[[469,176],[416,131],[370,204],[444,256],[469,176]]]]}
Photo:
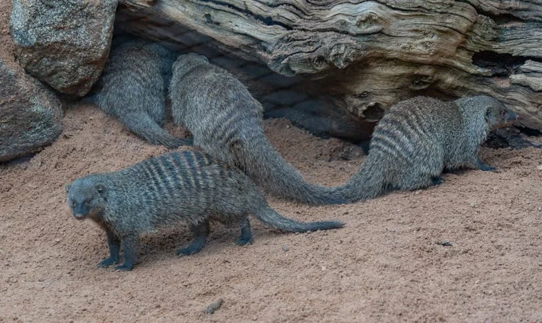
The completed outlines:
{"type": "Polygon", "coordinates": [[[344,186],[351,202],[389,190],[440,184],[447,168],[494,170],[477,157],[489,130],[507,126],[517,115],[485,95],[456,101],[414,97],[389,108],[375,127],[367,159],[344,186]]]}

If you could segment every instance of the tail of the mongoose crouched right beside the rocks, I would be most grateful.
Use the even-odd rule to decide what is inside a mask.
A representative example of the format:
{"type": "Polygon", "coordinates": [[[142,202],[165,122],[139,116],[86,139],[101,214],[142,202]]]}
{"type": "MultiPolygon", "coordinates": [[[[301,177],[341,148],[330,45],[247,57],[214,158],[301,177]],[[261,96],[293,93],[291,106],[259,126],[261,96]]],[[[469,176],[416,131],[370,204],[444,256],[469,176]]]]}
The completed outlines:
{"type": "Polygon", "coordinates": [[[191,138],[178,138],[168,133],[147,112],[130,110],[120,114],[119,119],[131,132],[147,140],[149,144],[164,145],[170,149],[178,148],[179,146],[192,146],[194,144],[194,140],[191,138]]]}

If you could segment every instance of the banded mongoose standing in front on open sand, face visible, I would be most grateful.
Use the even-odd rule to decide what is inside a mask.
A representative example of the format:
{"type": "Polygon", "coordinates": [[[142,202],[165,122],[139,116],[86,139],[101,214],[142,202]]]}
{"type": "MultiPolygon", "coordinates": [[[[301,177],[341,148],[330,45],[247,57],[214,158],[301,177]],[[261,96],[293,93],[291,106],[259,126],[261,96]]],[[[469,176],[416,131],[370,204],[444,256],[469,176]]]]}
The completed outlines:
{"type": "Polygon", "coordinates": [[[209,222],[240,226],[237,244],[252,242],[247,215],[288,232],[340,228],[335,221],[298,222],[274,211],[245,173],[198,151],[178,151],[152,157],[111,173],[87,175],[66,185],[68,205],[75,219],[93,219],[106,232],[111,255],[97,266],[119,261],[129,271],[136,263],[140,235],[187,222],[194,239],[178,255],[200,251],[209,235],[209,222]]]}

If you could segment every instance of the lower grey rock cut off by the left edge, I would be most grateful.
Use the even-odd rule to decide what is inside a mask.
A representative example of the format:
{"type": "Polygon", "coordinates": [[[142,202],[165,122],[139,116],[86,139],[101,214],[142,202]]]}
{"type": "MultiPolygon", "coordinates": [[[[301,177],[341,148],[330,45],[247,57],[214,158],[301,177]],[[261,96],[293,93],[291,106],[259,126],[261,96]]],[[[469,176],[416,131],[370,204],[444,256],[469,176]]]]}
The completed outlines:
{"type": "Polygon", "coordinates": [[[35,153],[62,133],[62,106],[37,79],[0,59],[0,161],[35,153]]]}

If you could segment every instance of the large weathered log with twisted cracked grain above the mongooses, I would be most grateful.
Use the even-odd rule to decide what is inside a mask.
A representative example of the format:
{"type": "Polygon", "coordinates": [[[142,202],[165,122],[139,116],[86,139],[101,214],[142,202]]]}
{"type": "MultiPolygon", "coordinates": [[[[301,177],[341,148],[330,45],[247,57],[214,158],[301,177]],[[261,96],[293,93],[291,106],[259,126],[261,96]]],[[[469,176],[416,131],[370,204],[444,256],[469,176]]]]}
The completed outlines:
{"type": "Polygon", "coordinates": [[[365,117],[415,95],[492,95],[542,130],[540,1],[121,0],[122,28],[301,75],[365,117]],[[190,32],[190,31],[195,31],[190,32]]]}

